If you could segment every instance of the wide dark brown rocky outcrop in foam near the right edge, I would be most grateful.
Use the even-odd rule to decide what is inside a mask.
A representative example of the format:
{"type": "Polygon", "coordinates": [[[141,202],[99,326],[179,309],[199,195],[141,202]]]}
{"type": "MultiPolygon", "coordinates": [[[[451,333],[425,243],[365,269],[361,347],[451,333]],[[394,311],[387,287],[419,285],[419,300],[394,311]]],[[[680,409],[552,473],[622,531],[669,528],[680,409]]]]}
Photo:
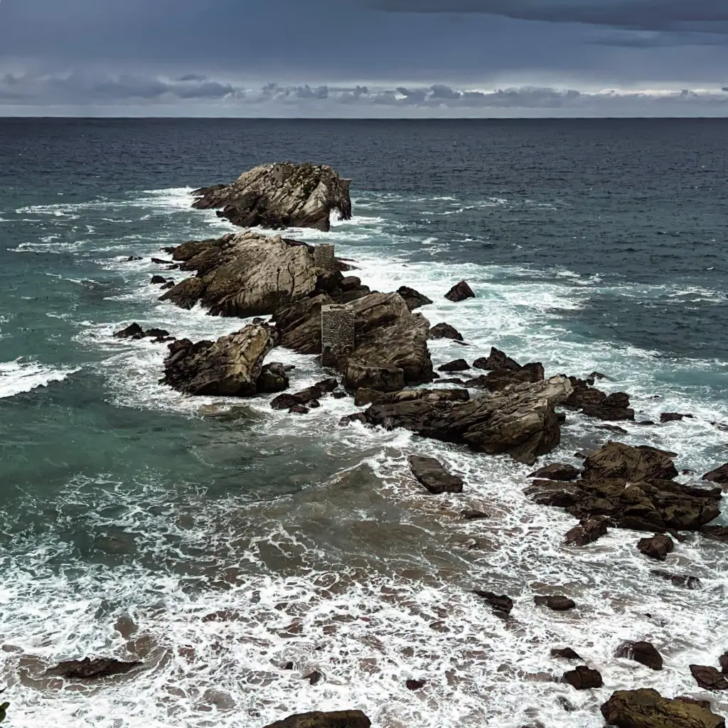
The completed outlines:
{"type": "Polygon", "coordinates": [[[526,494],[577,518],[606,516],[625,529],[664,533],[697,530],[719,515],[720,488],[676,483],[665,451],[609,443],[585,459],[582,480],[534,480],[526,494]]]}

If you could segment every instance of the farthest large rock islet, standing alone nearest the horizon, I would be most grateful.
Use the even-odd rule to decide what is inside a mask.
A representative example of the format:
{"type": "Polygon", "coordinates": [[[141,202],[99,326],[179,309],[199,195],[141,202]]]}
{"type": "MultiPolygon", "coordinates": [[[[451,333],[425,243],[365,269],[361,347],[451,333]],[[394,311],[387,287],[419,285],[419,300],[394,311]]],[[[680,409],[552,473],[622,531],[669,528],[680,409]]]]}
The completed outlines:
{"type": "Polygon", "coordinates": [[[349,183],[331,167],[289,162],[258,165],[232,184],[194,191],[192,206],[221,209],[218,215],[242,227],[328,231],[333,210],[343,220],[352,216],[349,183]]]}

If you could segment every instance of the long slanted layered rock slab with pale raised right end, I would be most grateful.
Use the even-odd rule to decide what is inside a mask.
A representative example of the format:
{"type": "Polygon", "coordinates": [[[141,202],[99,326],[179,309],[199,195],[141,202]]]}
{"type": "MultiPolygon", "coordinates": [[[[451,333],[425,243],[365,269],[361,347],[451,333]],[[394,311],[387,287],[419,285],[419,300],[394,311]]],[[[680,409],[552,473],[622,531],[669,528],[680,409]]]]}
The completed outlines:
{"type": "Polygon", "coordinates": [[[488,454],[507,453],[519,462],[533,464],[552,450],[561,438],[555,403],[569,396],[563,377],[539,384],[519,384],[498,395],[467,402],[441,396],[400,397],[384,400],[366,412],[369,424],[387,429],[404,427],[424,437],[463,443],[488,454]]]}

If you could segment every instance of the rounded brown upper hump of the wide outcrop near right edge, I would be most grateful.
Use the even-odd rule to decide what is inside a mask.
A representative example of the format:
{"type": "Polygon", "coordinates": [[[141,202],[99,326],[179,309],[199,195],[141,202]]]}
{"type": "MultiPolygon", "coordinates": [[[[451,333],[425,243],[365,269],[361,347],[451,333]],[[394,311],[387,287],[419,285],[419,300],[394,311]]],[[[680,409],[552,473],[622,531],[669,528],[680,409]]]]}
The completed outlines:
{"type": "Polygon", "coordinates": [[[672,455],[646,445],[633,447],[609,442],[587,457],[582,477],[585,480],[624,478],[632,483],[675,478],[678,471],[672,455]]]}

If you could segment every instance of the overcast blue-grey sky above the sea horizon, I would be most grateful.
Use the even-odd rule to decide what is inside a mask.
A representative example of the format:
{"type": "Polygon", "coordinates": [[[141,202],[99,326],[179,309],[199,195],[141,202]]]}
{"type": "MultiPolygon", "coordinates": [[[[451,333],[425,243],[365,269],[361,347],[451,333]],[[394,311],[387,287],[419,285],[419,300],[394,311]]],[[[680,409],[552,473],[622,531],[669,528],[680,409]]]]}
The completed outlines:
{"type": "Polygon", "coordinates": [[[728,0],[0,0],[0,116],[727,116],[728,0]]]}

